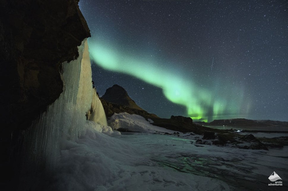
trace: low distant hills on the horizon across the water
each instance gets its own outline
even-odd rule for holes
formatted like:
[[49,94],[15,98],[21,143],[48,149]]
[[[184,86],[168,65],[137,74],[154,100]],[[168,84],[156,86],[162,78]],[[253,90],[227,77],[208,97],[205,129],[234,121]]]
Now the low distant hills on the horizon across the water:
[[219,119],[210,123],[195,122],[204,126],[240,126],[240,127],[288,127],[287,121],[251,120],[244,118]]

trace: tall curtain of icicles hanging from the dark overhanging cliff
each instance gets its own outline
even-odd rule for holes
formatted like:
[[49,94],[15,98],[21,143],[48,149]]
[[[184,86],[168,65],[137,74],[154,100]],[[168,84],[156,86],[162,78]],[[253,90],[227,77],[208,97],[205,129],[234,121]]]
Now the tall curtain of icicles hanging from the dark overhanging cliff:
[[64,88],[59,98],[23,134],[26,169],[55,168],[65,141],[75,141],[87,125],[85,114],[94,94],[87,39],[78,52],[76,60],[62,64]]

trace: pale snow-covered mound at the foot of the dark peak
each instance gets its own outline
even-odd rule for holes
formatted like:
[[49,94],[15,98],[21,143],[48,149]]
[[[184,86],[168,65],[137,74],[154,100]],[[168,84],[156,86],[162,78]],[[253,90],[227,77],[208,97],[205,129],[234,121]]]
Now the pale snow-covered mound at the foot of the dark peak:
[[129,114],[129,113],[115,113],[109,120],[108,124],[113,129],[127,129],[132,132],[164,132],[164,133],[170,133],[173,134],[174,132],[178,131],[172,131],[169,129],[165,129],[163,127],[158,127],[151,125],[150,123],[153,122],[151,119],[146,121],[144,117],[140,115],[135,114]]

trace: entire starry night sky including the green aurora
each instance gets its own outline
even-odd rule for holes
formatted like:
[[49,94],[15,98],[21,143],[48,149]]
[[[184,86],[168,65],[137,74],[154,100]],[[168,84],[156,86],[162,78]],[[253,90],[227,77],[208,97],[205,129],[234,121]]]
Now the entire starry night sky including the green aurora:
[[99,95],[194,121],[288,121],[288,1],[80,0]]

